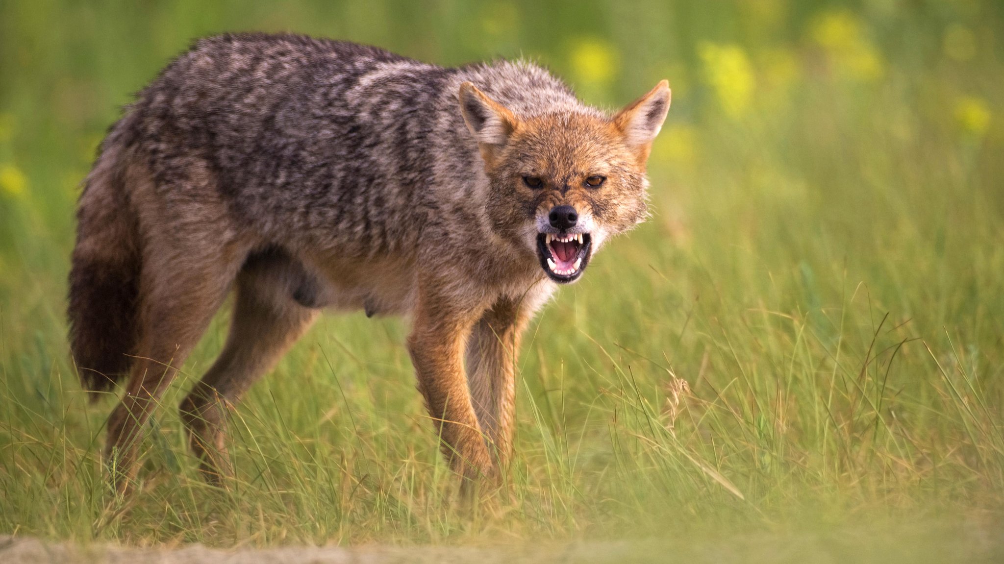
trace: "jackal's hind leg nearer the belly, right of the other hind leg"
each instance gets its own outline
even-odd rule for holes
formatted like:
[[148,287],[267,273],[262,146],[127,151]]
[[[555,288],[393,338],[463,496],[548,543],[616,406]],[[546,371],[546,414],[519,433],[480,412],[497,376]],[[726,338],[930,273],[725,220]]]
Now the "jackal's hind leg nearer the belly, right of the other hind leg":
[[268,372],[310,326],[319,310],[294,299],[301,270],[283,256],[252,256],[237,276],[227,343],[209,371],[182,401],[189,446],[203,477],[223,484],[233,475],[226,446],[228,405]]

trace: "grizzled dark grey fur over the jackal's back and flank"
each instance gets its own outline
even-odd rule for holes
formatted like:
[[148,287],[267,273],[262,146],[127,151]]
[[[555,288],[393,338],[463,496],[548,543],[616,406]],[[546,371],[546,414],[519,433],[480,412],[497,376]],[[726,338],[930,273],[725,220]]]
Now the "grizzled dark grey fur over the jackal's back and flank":
[[224,35],[178,57],[128,125],[161,184],[178,184],[198,158],[265,237],[307,230],[365,256],[412,246],[442,204],[437,187],[474,190],[481,166],[457,101],[465,80],[527,114],[582,107],[527,63],[441,68],[348,42]]

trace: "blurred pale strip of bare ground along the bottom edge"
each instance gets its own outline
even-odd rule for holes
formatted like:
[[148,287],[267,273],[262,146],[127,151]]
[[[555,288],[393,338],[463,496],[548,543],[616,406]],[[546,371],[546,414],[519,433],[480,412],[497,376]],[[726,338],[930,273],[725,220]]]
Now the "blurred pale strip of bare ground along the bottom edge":
[[137,548],[0,536],[3,564],[537,564],[1004,562],[1004,531],[986,524],[835,529],[719,539],[525,543],[518,546]]

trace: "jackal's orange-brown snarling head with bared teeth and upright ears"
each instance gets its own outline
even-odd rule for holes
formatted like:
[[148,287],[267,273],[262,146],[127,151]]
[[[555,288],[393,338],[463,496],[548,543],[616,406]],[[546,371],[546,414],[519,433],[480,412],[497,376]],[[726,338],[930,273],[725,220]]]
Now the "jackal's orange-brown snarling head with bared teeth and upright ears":
[[585,106],[518,116],[471,82],[460,105],[491,183],[493,232],[535,253],[551,280],[577,280],[603,241],[645,220],[666,80],[612,116]]

